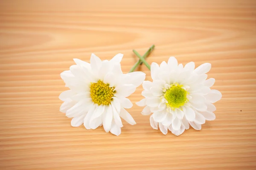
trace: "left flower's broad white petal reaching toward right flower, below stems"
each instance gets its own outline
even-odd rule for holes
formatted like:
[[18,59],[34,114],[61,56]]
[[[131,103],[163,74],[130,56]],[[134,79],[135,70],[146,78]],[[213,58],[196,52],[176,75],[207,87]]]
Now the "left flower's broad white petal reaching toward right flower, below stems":
[[125,79],[125,84],[133,84],[136,87],[141,85],[146,77],[146,74],[141,71],[131,72],[126,75],[128,75],[129,77]]

